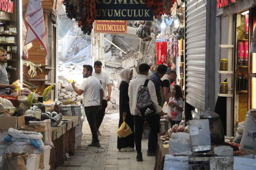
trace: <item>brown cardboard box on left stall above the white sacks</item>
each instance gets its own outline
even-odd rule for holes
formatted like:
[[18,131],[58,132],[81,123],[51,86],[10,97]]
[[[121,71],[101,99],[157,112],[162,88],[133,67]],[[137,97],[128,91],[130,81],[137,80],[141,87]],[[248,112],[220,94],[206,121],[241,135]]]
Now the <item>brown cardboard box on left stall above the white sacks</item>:
[[9,128],[18,129],[23,124],[25,124],[24,116],[0,116],[0,130],[8,130]]

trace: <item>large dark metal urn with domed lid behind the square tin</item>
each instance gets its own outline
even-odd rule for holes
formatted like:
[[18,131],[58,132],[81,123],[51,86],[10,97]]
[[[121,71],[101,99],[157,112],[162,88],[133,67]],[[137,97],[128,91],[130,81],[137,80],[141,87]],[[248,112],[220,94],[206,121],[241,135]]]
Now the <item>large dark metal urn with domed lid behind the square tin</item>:
[[200,115],[200,119],[209,119],[211,143],[216,145],[224,144],[225,134],[219,115],[213,112],[211,108],[208,108],[206,112]]

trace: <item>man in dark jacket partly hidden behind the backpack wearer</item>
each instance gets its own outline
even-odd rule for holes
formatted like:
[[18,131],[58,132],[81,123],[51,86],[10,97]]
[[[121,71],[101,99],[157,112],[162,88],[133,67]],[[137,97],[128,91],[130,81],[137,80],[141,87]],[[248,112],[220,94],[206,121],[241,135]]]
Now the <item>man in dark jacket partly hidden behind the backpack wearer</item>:
[[[162,103],[162,97],[161,97],[161,93],[160,93],[160,86],[161,86],[161,83],[162,83],[161,78],[165,75],[166,71],[167,71],[167,66],[161,64],[157,67],[157,72],[155,72],[154,74],[149,76],[150,80],[155,85],[155,92],[157,93],[157,102],[158,102],[159,106],[161,106],[161,103]],[[161,116],[158,115],[158,118],[159,118],[158,122],[160,121],[160,117]],[[151,133],[151,128],[150,128],[149,134],[148,134],[147,156],[155,156],[156,149],[157,149],[157,146],[154,146],[153,135]]]

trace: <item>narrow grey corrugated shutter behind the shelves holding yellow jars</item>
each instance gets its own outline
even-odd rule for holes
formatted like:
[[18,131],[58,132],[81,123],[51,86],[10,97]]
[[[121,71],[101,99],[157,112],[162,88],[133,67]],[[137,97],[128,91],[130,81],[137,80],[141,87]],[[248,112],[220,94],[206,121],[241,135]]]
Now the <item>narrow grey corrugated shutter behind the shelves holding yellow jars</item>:
[[[227,44],[227,35],[229,31],[229,16],[221,17],[221,44]],[[221,59],[227,59],[227,48],[221,48]],[[221,82],[226,80],[227,74],[221,74]]]

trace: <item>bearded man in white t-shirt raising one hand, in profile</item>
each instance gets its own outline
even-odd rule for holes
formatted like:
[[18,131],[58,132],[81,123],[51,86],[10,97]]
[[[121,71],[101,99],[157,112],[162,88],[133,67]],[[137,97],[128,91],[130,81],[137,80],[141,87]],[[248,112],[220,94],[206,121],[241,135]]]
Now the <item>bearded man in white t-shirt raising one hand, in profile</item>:
[[76,88],[76,82],[73,81],[71,84],[78,95],[83,94],[84,112],[93,135],[93,140],[88,146],[99,147],[101,145],[99,144],[95,116],[102,107],[103,90],[99,80],[91,76],[92,72],[93,67],[91,65],[83,65],[83,78],[86,79],[83,81],[80,89]]

